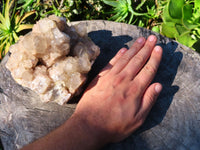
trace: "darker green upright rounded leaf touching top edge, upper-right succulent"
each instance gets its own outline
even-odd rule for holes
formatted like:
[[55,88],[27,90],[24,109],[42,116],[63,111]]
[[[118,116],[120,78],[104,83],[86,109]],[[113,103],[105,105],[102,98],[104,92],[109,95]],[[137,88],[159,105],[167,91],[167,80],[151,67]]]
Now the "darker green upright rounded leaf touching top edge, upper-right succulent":
[[169,15],[174,19],[181,19],[184,3],[184,0],[170,0],[168,7]]

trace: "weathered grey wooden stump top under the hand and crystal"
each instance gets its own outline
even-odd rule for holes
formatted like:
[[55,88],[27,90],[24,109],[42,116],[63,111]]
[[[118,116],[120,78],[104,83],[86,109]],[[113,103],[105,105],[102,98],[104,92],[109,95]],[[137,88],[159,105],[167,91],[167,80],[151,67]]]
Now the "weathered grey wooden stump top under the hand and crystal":
[[[89,73],[90,79],[121,47],[129,47],[139,36],[155,34],[107,21],[84,21],[79,25],[86,26],[89,37],[101,49]],[[155,81],[161,82],[164,89],[145,124],[126,140],[104,150],[199,150],[200,56],[156,35],[164,53]],[[5,68],[7,57],[0,65],[0,135],[5,149],[14,150],[62,124],[76,104],[37,103],[39,97],[35,93],[12,79]]]

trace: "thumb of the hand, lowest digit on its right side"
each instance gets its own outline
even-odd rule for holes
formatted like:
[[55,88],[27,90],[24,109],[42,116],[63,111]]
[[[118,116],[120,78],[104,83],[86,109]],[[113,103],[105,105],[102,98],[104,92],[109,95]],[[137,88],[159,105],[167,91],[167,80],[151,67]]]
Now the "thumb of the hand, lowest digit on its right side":
[[146,118],[161,91],[162,85],[160,83],[154,83],[147,88],[142,99],[139,116]]

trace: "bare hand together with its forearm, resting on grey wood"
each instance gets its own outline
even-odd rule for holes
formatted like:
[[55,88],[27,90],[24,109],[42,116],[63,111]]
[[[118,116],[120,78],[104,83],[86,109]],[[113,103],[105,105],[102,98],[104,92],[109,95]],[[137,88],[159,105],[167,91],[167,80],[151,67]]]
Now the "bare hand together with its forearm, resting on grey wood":
[[153,35],[122,48],[91,82],[62,126],[22,150],[94,150],[118,142],[145,121],[162,90],[151,84],[162,58]]

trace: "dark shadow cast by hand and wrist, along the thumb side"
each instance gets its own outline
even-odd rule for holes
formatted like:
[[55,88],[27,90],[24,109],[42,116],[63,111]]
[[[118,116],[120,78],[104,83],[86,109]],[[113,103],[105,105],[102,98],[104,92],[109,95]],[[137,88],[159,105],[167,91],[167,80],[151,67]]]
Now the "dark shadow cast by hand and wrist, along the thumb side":
[[153,106],[145,123],[134,134],[120,143],[106,146],[104,150],[120,148],[123,150],[152,150],[149,148],[145,139],[143,139],[143,136],[145,136],[143,132],[145,131],[148,134],[148,132],[151,132],[151,128],[160,124],[164,119],[175,93],[179,90],[178,86],[173,85],[173,81],[177,74],[178,66],[183,58],[183,54],[181,52],[175,52],[178,46],[177,43],[172,41],[167,44],[158,45],[163,48],[163,58],[153,82],[161,83],[163,85],[163,90],[157,102]]

